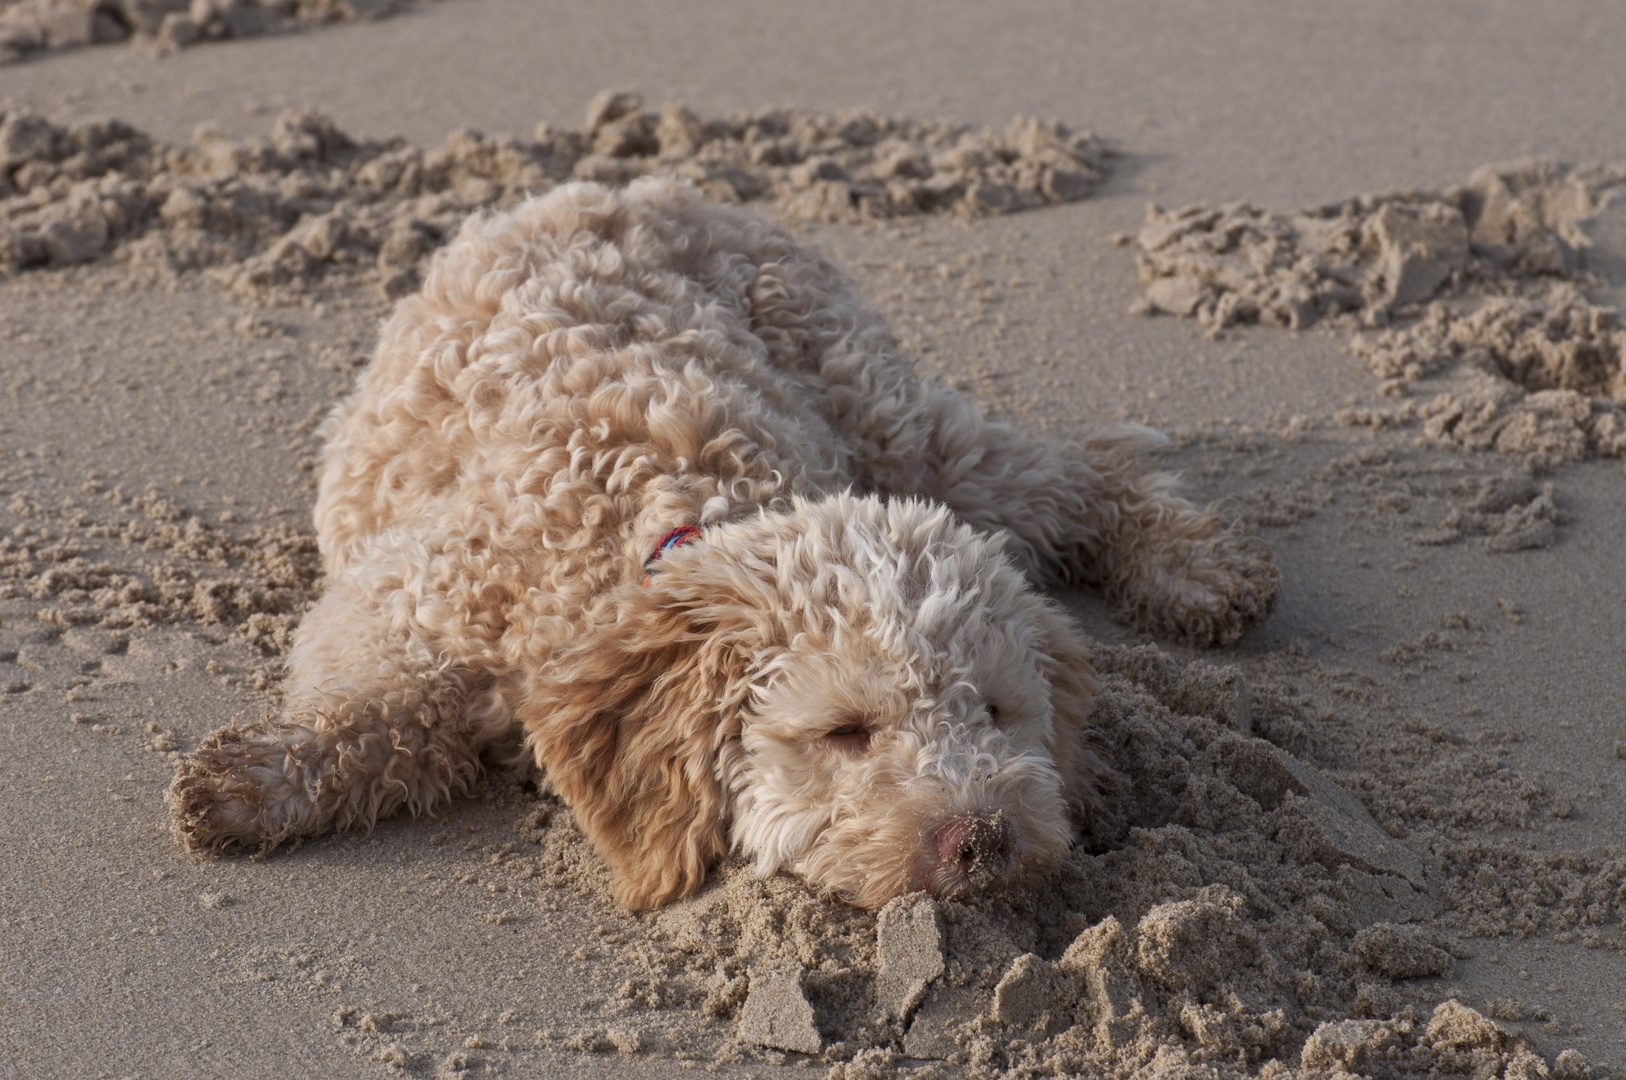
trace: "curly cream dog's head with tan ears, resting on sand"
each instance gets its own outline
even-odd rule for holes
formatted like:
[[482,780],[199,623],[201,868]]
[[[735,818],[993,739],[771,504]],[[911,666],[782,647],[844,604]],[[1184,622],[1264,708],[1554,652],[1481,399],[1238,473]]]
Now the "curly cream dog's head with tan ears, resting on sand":
[[616,898],[732,844],[863,906],[1044,873],[1099,808],[1083,644],[941,506],[834,496],[707,530],[525,704]]

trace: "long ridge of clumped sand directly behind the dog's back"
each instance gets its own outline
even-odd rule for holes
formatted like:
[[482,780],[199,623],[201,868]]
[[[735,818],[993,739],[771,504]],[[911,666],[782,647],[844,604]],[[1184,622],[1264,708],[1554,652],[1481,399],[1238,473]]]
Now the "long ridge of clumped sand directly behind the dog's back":
[[333,280],[387,296],[475,210],[569,179],[672,174],[719,202],[771,202],[805,221],[987,215],[1083,198],[1107,151],[1057,122],[974,130],[854,111],[701,119],[598,94],[580,130],[530,140],[460,130],[434,150],[359,140],[312,111],[268,138],[202,128],[164,146],[117,120],[0,119],[0,273],[115,255],[166,273],[210,268],[239,293],[298,298]]

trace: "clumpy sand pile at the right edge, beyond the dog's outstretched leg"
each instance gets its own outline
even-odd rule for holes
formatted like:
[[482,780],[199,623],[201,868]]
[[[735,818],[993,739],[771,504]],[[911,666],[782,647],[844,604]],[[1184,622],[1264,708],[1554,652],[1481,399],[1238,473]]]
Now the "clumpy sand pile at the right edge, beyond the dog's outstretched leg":
[[1351,350],[1406,397],[1418,381],[1483,381],[1346,423],[1423,423],[1426,438],[1550,460],[1626,451],[1626,332],[1587,301],[1579,224],[1623,168],[1486,166],[1446,192],[1361,195],[1298,215],[1247,205],[1148,210],[1135,237],[1141,312],[1210,332],[1262,324],[1364,330]]

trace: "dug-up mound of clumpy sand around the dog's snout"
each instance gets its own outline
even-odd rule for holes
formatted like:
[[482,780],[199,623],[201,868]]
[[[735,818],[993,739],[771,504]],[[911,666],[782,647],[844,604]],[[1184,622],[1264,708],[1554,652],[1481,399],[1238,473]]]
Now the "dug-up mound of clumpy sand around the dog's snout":
[[[689,1010],[720,1026],[724,1057],[806,1054],[831,1080],[938,1075],[930,1062],[989,1078],[1602,1075],[1569,1051],[1548,1064],[1437,982],[1459,937],[1597,935],[1626,914],[1626,862],[1566,857],[1550,886],[1551,859],[1475,830],[1543,808],[1488,768],[1494,750],[1442,750],[1426,724],[1374,732],[1340,751],[1371,766],[1346,773],[1356,799],[1283,748],[1307,753],[1332,722],[1288,683],[1151,646],[1094,662],[1122,817],[1046,890],[865,912],[730,862],[699,895],[606,929],[639,971],[620,1007]],[[602,901],[569,810],[546,802],[520,833],[540,854],[504,856],[512,872]]]

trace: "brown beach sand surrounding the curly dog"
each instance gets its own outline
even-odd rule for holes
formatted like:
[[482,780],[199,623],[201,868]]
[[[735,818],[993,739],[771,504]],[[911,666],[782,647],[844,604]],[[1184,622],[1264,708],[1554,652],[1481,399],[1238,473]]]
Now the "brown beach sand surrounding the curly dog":
[[[1608,7],[774,20],[444,0],[3,68],[0,1075],[1626,1072]],[[163,787],[276,708],[377,320],[465,213],[647,171],[824,246],[997,416],[1169,431],[1275,620],[1198,655],[1062,597],[1122,790],[1034,895],[730,862],[631,917],[517,774],[185,857]]]

